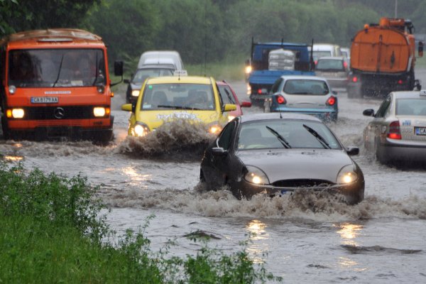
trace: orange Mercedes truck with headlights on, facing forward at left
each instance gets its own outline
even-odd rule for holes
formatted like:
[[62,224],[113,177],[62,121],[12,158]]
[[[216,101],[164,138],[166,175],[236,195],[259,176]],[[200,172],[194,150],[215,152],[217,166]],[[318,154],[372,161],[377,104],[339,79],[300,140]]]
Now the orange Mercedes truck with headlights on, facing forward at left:
[[[122,77],[123,63],[114,63]],[[111,80],[102,38],[79,29],[14,33],[0,40],[4,138],[113,137]]]

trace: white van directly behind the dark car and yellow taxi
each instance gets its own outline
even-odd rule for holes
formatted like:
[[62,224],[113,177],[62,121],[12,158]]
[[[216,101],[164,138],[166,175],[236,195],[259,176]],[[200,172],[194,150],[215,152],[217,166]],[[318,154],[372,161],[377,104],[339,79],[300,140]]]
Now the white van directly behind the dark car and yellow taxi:
[[142,53],[139,58],[138,69],[144,65],[164,65],[174,70],[185,70],[178,51],[174,50],[151,50]]

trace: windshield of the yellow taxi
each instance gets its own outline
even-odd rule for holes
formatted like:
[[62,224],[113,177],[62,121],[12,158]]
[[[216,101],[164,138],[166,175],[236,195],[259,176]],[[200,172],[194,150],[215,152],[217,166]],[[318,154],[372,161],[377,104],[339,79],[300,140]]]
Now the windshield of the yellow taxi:
[[141,109],[213,110],[214,96],[210,84],[147,84]]

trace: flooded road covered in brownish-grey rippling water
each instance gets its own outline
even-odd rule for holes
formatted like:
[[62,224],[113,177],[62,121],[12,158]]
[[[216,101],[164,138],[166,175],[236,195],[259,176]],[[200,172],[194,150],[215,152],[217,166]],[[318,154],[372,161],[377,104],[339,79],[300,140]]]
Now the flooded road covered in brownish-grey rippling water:
[[[426,70],[417,77],[426,83]],[[230,84],[248,99],[244,82]],[[426,282],[425,170],[390,168],[364,151],[362,131],[371,118],[362,111],[377,109],[380,100],[338,94],[339,121],[329,126],[345,146],[359,146],[354,160],[366,180],[365,200],[348,206],[327,196],[240,201],[226,191],[206,192],[198,185],[202,146],[153,158],[155,154],[146,157],[141,149],[155,148],[155,141],[147,145],[126,138],[129,113],[119,110],[124,85],[122,89],[113,101],[115,141],[110,146],[0,141],[0,152],[6,160],[23,160],[27,168],[82,174],[101,185],[99,195],[112,209],[108,222],[119,234],[137,230],[154,214],[146,229],[153,251],[173,240],[170,253],[195,254],[202,244],[184,235],[200,231],[213,236],[210,247],[225,253],[239,251],[241,241],[248,241],[251,258],[266,263],[284,283]],[[166,142],[157,141],[157,148],[164,149]]]

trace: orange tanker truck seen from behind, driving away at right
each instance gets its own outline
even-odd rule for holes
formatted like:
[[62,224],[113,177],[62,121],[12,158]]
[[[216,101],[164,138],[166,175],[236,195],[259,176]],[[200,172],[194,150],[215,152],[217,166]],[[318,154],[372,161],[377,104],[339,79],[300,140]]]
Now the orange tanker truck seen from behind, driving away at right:
[[[416,82],[414,26],[403,18],[381,18],[365,25],[351,45],[348,97],[383,96],[412,90]],[[423,46],[419,43],[418,55]]]

